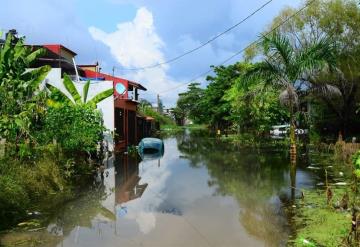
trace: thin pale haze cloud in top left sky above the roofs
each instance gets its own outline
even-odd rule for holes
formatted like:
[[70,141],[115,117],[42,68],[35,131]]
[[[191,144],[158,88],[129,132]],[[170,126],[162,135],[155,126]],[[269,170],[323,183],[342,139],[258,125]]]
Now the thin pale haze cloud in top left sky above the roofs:
[[78,64],[114,63],[107,47],[94,41],[83,25],[74,0],[1,0],[0,29],[12,28],[25,35],[28,44],[66,46],[78,54]]

